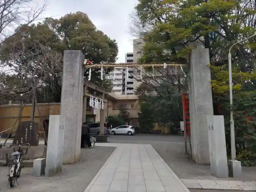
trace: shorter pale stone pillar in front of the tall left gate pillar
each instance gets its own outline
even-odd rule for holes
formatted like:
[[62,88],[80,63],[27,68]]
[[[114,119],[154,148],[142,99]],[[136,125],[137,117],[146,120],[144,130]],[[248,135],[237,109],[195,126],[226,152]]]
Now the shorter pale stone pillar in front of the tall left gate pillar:
[[50,115],[45,167],[46,177],[54,176],[61,172],[63,163],[64,123],[65,116]]

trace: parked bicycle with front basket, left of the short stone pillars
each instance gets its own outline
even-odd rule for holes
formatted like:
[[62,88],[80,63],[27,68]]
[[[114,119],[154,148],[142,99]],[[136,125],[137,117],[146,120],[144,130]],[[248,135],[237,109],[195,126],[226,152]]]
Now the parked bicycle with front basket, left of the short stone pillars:
[[8,183],[10,183],[10,187],[14,187],[15,181],[19,185],[17,179],[20,177],[20,173],[21,173],[22,157],[23,157],[23,155],[27,154],[27,150],[29,149],[28,147],[23,148],[23,149],[20,147],[25,146],[25,145],[30,147],[29,143],[25,143],[22,145],[12,143],[9,147],[9,148],[11,148],[12,146],[19,147],[18,150],[15,150],[15,148],[14,148],[14,153],[11,154],[11,156],[13,157],[13,161],[10,163],[8,160],[8,166],[9,166]]

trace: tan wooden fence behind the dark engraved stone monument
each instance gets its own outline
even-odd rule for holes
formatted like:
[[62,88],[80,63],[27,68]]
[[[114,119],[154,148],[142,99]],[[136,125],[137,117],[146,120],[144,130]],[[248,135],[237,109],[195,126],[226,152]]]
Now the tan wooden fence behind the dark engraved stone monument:
[[[21,113],[22,108],[23,108],[23,105],[19,105],[19,104],[0,106],[0,132],[14,126],[15,121],[19,117],[19,114]],[[32,108],[31,104],[27,104],[24,107],[18,122],[16,123],[14,129],[12,129],[11,132],[16,132],[16,129],[20,121],[30,120],[31,108]],[[38,106],[35,107],[35,113],[34,113],[34,121],[38,122],[38,132],[39,133],[43,132],[40,117],[42,120],[44,120],[45,118],[48,118],[49,115],[59,115],[59,114],[60,114],[60,103],[39,103]]]

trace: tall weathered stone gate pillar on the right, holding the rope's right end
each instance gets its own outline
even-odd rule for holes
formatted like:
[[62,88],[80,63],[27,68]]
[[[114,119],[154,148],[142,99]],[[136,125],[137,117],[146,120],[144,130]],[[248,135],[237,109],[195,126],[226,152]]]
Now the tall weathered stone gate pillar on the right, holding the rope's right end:
[[189,113],[192,159],[209,165],[207,116],[213,115],[209,49],[193,49],[189,66]]

